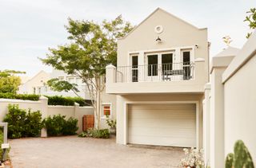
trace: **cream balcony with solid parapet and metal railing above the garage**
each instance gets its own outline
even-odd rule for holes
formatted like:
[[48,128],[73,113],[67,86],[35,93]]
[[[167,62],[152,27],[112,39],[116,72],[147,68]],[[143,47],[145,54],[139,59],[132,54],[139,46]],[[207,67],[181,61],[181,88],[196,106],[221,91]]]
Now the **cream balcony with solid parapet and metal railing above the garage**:
[[202,93],[207,81],[205,61],[106,67],[106,93]]

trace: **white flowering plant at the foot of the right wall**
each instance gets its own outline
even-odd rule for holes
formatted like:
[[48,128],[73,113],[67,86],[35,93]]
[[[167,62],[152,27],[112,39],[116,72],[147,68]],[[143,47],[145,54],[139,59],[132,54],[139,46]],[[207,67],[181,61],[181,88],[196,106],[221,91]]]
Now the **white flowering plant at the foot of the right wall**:
[[183,149],[185,152],[185,158],[182,158],[179,163],[179,167],[190,167],[190,168],[202,168],[205,166],[203,161],[203,150],[198,150],[195,148]]

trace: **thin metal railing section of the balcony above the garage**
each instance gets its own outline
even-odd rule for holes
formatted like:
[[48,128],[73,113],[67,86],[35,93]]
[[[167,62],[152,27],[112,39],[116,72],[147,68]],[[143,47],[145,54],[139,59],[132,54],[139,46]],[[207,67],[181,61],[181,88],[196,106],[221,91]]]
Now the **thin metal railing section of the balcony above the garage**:
[[194,62],[120,66],[115,72],[116,83],[193,80]]

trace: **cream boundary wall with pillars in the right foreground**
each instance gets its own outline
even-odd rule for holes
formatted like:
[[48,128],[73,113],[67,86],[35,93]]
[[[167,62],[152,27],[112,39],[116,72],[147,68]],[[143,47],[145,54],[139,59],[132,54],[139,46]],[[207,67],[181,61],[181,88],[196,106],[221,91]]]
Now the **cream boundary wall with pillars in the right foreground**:
[[241,139],[256,164],[256,31],[233,57],[213,57],[204,100],[204,150],[210,167],[225,167]]

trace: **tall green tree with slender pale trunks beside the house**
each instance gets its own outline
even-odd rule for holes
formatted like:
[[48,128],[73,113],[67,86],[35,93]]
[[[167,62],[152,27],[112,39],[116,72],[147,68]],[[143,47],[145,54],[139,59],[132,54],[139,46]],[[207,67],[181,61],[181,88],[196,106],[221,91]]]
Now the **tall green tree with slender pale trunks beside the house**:
[[[70,43],[59,45],[55,49],[51,48],[47,57],[41,60],[55,69],[82,78],[90,92],[94,107],[94,123],[98,128],[102,92],[105,89],[105,67],[107,64],[116,64],[117,39],[126,36],[133,27],[130,22],[123,21],[121,15],[112,21],[105,20],[100,24],[94,21],[75,21],[70,18],[68,21],[66,30],[69,33]],[[54,85],[63,84],[56,84],[55,81]],[[66,86],[70,87],[68,84]]]

